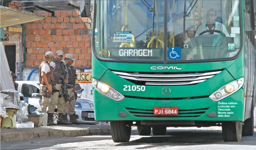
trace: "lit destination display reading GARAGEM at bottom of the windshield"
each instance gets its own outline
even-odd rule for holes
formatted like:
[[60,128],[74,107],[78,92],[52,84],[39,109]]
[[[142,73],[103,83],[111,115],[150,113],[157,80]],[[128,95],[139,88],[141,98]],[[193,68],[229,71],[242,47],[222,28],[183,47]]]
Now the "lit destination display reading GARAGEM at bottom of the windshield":
[[161,49],[111,48],[114,57],[160,57]]

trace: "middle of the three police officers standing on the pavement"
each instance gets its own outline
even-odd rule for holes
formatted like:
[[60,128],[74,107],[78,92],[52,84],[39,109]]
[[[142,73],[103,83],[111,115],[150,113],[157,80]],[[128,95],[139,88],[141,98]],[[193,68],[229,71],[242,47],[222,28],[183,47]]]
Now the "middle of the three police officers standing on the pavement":
[[69,121],[65,120],[65,115],[63,113],[64,110],[64,94],[65,91],[63,90],[63,85],[65,85],[66,82],[66,70],[65,65],[61,61],[63,58],[63,51],[57,50],[55,54],[55,58],[50,63],[50,65],[54,68],[53,71],[53,77],[54,77],[54,84],[53,84],[53,91],[52,95],[50,97],[50,104],[49,104],[49,110],[48,110],[48,116],[53,115],[55,111],[55,107],[57,106],[58,110],[58,121],[57,124],[59,125],[69,125],[71,124]]

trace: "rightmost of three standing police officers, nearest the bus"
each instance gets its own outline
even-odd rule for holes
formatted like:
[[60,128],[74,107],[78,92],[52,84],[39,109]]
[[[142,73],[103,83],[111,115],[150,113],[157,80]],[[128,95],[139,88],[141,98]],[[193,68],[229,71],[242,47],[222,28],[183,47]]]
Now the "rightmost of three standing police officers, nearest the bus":
[[76,119],[76,112],[75,112],[75,105],[76,105],[76,69],[72,66],[72,63],[76,59],[74,58],[73,54],[66,54],[65,59],[64,59],[64,64],[66,65],[66,69],[69,73],[69,83],[66,85],[67,86],[67,91],[69,94],[70,100],[65,103],[65,108],[64,108],[64,114],[65,114],[65,119],[67,120],[67,113],[69,113],[70,116],[70,122],[72,124],[81,124],[80,122],[77,121]]

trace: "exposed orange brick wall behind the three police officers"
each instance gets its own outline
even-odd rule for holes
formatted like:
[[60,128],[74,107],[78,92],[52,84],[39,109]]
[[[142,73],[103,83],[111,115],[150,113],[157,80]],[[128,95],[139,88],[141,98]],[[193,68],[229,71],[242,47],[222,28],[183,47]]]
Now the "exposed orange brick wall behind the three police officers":
[[76,68],[91,68],[91,20],[79,11],[34,11],[47,17],[25,25],[27,48],[25,67],[38,67],[47,51],[63,50],[77,59]]

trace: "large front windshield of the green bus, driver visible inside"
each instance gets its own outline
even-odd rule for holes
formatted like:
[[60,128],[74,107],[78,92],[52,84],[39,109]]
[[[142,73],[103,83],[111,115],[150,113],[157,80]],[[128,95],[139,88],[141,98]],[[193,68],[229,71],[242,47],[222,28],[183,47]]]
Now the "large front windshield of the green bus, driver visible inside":
[[213,61],[240,51],[239,0],[99,0],[94,7],[101,58]]

